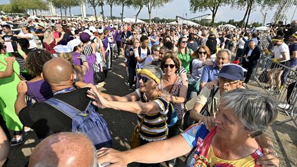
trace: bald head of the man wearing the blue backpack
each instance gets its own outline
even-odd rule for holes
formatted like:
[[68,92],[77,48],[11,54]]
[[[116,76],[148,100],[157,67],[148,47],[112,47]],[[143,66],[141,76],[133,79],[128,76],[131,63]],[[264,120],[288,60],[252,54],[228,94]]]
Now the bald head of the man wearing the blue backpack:
[[63,58],[52,58],[43,65],[43,78],[50,85],[72,84],[73,68],[69,61]]

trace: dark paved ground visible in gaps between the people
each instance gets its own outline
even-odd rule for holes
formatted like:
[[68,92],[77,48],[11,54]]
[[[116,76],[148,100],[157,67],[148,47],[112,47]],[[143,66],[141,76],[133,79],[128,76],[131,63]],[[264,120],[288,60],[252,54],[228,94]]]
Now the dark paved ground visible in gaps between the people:
[[[113,70],[109,72],[106,80],[106,84],[102,87],[102,91],[124,96],[128,91],[126,85],[126,71],[124,69],[124,58],[118,58],[113,61]],[[255,82],[249,85],[251,89],[258,89]],[[190,109],[193,105],[192,100],[189,101],[186,106]],[[113,109],[100,110],[105,120],[109,124],[111,129],[111,135],[113,136],[114,148],[124,151],[130,148],[129,139],[131,137],[133,126],[135,125],[136,115],[132,113],[126,113],[123,111],[114,111]],[[279,113],[276,122],[286,120],[287,116],[284,113]],[[267,133],[274,141],[274,146],[281,159],[281,166],[297,166],[297,133],[296,126],[292,122],[276,125],[273,124]],[[11,149],[10,161],[8,166],[24,166],[32,153],[32,150],[36,144],[39,143],[34,133],[25,136],[26,142],[21,146],[14,146]],[[184,157],[180,157],[177,160],[176,166],[183,166]],[[131,164],[129,166],[136,166]]]

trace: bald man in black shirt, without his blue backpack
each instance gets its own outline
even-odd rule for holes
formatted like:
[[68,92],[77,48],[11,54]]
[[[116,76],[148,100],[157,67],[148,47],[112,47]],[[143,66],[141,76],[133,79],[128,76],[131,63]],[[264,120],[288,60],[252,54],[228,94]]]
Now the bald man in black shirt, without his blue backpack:
[[[43,65],[43,78],[50,83],[54,98],[66,102],[83,111],[89,104],[88,88],[74,89],[72,86],[74,74],[72,65],[63,58],[54,58]],[[17,86],[17,101],[15,109],[19,119],[36,132],[37,137],[44,138],[58,132],[72,131],[72,119],[45,102],[39,102],[27,107],[25,93],[28,87],[25,82]]]

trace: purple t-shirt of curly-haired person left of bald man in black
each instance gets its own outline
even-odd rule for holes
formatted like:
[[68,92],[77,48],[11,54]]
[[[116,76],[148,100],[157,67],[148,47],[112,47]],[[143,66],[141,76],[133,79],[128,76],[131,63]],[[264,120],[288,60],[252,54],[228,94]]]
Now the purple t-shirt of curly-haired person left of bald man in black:
[[29,98],[33,98],[37,102],[44,102],[45,100],[52,98],[52,96],[54,96],[50,84],[45,80],[27,82],[27,85],[27,96]]

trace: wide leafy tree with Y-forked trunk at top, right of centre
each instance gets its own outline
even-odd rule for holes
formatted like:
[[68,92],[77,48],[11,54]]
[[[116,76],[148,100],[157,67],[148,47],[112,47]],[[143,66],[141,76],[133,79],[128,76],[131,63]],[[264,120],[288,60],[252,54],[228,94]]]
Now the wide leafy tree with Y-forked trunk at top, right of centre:
[[227,4],[227,0],[190,0],[190,10],[192,12],[202,12],[210,10],[212,12],[212,22],[214,25],[214,18],[220,6]]

